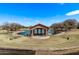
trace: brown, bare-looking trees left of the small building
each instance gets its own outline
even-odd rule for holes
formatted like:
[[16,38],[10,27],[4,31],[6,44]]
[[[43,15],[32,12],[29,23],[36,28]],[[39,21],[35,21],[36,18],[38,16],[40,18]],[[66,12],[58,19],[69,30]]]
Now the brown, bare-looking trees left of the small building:
[[0,26],[3,30],[7,30],[8,32],[10,31],[17,31],[21,28],[25,28],[25,26],[20,25],[18,23],[4,23],[3,25]]

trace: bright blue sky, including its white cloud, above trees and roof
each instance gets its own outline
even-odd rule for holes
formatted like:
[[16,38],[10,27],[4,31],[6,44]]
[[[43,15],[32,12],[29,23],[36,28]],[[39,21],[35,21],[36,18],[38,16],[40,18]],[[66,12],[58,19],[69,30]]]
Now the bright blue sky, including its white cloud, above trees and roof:
[[50,26],[69,18],[79,21],[78,3],[0,4],[0,24],[16,22],[25,26],[38,23]]

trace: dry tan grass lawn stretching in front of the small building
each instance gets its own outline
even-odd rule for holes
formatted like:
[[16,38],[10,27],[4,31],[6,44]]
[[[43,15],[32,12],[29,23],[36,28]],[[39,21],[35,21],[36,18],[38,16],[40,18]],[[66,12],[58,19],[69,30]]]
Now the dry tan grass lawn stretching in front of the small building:
[[[69,40],[67,40],[69,37]],[[12,38],[12,40],[10,40]],[[11,36],[10,34],[0,34],[0,47],[19,49],[41,49],[56,50],[68,49],[79,46],[79,30],[63,33],[62,35],[52,35],[49,39],[38,40],[24,36]]]

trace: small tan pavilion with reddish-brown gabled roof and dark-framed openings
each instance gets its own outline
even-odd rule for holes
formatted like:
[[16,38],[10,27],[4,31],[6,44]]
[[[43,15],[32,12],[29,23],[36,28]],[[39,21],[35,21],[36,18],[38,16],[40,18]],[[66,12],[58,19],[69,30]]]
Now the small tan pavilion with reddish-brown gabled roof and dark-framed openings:
[[42,24],[37,24],[35,26],[30,27],[31,36],[45,36],[48,35],[48,27]]

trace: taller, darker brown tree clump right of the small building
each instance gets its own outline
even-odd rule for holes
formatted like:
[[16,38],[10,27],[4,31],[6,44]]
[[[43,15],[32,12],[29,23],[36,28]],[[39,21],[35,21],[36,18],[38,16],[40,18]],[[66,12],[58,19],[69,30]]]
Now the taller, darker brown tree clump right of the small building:
[[62,23],[54,23],[50,26],[53,34],[69,31],[71,29],[79,29],[79,22],[76,19],[67,19]]

